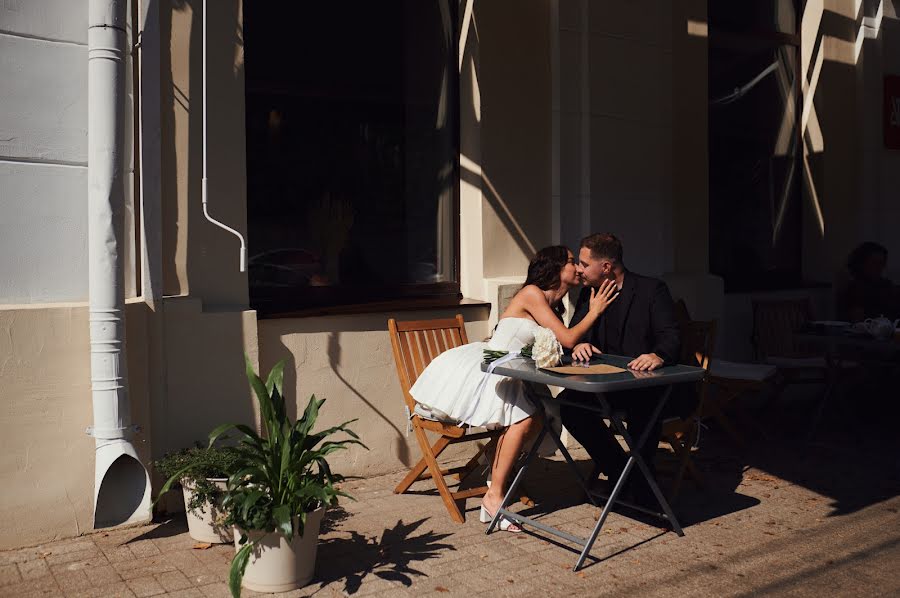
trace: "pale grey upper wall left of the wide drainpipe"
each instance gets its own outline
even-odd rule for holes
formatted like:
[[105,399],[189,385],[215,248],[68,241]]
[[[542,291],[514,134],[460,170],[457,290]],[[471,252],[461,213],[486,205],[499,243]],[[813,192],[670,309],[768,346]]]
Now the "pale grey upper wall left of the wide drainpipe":
[[87,298],[86,44],[86,1],[0,4],[0,304]]

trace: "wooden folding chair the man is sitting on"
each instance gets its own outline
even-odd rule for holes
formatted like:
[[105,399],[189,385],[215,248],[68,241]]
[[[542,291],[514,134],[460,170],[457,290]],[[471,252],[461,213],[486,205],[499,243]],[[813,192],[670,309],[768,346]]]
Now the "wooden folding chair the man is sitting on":
[[697,383],[697,408],[687,419],[672,418],[663,421],[662,441],[672,447],[678,458],[678,471],[669,491],[670,500],[675,500],[681,490],[685,474],[702,487],[703,480],[691,459],[691,448],[700,433],[700,421],[711,415],[708,413],[707,393],[709,390],[709,363],[712,358],[716,338],[716,321],[690,320],[681,325],[681,363],[702,367],[707,374]]

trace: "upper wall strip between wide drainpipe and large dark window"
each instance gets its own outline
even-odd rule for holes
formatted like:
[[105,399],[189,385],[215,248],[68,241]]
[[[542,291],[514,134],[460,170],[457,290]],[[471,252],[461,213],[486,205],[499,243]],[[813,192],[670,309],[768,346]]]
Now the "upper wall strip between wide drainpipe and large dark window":
[[[210,212],[214,218],[243,230],[246,159],[241,2],[215,0],[209,4]],[[206,299],[211,303],[246,304],[246,275],[237,268],[237,241],[203,216],[202,0],[160,0],[158,12],[164,294],[186,295],[191,290],[196,294],[200,290],[210,295]],[[189,17],[176,13],[189,13]],[[184,18],[190,19],[188,24]],[[217,101],[223,98],[225,101]],[[229,300],[234,289],[241,289],[243,295]]]

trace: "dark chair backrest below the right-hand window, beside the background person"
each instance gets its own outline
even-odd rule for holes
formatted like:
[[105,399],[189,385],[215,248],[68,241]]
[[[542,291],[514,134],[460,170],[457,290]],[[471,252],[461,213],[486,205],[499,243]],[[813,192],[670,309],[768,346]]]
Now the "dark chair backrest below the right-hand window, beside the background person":
[[809,297],[753,301],[753,357],[793,357],[798,354],[794,331],[812,319]]

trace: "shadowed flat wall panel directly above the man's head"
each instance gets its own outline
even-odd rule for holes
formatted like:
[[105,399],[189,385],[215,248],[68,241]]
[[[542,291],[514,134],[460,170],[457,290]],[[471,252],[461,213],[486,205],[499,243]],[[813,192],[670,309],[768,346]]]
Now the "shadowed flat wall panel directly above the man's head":
[[615,232],[628,267],[672,269],[672,4],[591,2],[592,231]]

